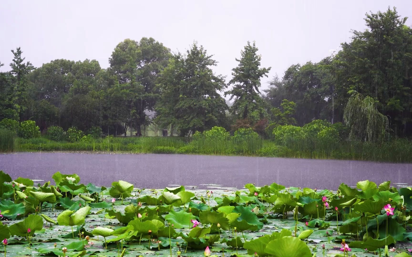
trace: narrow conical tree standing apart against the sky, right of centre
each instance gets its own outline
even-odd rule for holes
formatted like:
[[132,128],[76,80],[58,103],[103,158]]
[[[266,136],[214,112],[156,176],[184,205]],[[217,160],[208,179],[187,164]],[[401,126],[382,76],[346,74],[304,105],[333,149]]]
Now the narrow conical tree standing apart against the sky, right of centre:
[[269,68],[260,68],[262,56],[258,55],[255,42],[248,44],[241,51],[241,58],[236,58],[239,65],[232,69],[233,78],[228,86],[232,89],[225,92],[234,99],[230,108],[231,113],[238,119],[248,119],[253,123],[267,116],[265,103],[260,96],[260,79],[267,76]]

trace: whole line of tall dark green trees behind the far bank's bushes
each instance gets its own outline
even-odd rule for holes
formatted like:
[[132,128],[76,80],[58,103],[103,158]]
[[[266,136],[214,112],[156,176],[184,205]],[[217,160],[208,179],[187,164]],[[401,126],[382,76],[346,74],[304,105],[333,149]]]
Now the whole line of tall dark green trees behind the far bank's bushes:
[[[265,136],[277,125],[303,126],[317,119],[345,123],[345,107],[358,94],[387,118],[391,134],[408,137],[412,28],[406,20],[396,8],[366,14],[367,29],[353,30],[335,55],[291,65],[262,92],[260,79],[270,67],[261,67],[255,42],[247,42],[236,58],[228,83],[213,72],[216,60],[197,42],[184,53],[171,53],[151,37],[125,39],[113,50],[107,69],[89,59],[58,59],[35,68],[18,47],[12,50],[11,70],[0,73],[0,120],[31,119],[41,130],[97,126],[115,135],[132,130],[140,135],[149,125],[171,125],[182,136],[213,126],[251,127]],[[227,106],[222,95],[233,105]]]

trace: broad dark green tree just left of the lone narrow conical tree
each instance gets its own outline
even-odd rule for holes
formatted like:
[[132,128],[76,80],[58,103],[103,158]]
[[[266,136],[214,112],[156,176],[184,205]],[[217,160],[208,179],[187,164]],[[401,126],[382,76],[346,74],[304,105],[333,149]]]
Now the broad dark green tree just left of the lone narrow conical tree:
[[197,43],[186,55],[173,56],[157,81],[157,120],[175,125],[181,135],[220,125],[228,107],[218,93],[226,87],[225,77],[211,69],[216,63]]

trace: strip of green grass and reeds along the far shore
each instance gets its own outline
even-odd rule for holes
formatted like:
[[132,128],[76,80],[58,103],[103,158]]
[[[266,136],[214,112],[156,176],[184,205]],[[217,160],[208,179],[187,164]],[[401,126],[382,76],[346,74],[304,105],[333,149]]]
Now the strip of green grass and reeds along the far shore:
[[288,141],[279,146],[270,140],[234,141],[180,137],[115,137],[89,142],[56,142],[45,137],[15,140],[16,151],[98,151],[129,153],[180,153],[204,155],[242,155],[307,159],[370,160],[412,162],[412,142],[396,139],[380,144],[358,141],[320,143]]

